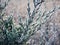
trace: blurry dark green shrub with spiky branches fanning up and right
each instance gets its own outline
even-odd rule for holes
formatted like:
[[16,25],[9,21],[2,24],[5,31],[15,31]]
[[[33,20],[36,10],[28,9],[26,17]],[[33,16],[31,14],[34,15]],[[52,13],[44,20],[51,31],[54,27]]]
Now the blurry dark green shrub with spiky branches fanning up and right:
[[[41,14],[39,9],[44,0],[33,0],[34,10],[30,12],[30,3],[28,0],[28,15],[25,22],[22,21],[21,16],[19,16],[19,25],[16,27],[13,23],[13,16],[9,15],[7,19],[4,19],[4,9],[8,3],[1,4],[0,6],[0,45],[27,45],[26,42],[29,38],[38,30],[41,29],[41,25],[45,24],[53,13],[60,9],[60,7],[54,7],[50,11],[45,11]],[[44,2],[45,3],[45,2]],[[37,8],[37,6],[39,6]],[[37,12],[38,10],[38,12]],[[38,17],[34,20],[35,15],[38,13]],[[41,17],[43,17],[43,22],[41,22]],[[48,22],[46,27],[48,27]],[[49,45],[51,43],[48,37],[49,30],[45,29],[45,33],[42,33],[40,37],[40,45]],[[53,36],[54,37],[54,36]]]

